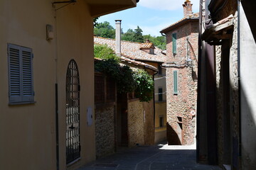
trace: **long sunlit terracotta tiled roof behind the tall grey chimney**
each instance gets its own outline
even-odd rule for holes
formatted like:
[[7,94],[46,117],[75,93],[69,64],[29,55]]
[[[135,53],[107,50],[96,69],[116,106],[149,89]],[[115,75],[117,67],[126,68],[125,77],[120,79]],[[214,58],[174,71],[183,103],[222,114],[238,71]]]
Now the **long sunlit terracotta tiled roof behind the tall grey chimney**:
[[[115,51],[115,40],[110,38],[94,37],[94,43],[99,45],[107,45]],[[143,43],[121,41],[121,55],[131,60],[141,60],[148,62],[166,62],[166,55],[161,53],[161,49],[155,47],[154,55],[140,50]]]

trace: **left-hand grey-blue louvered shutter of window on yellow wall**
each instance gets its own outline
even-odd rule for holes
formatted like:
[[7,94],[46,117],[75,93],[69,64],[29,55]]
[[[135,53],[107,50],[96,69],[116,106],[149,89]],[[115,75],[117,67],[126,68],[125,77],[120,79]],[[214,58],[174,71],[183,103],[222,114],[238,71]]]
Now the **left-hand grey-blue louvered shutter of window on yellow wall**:
[[8,45],[9,103],[21,101],[21,48]]

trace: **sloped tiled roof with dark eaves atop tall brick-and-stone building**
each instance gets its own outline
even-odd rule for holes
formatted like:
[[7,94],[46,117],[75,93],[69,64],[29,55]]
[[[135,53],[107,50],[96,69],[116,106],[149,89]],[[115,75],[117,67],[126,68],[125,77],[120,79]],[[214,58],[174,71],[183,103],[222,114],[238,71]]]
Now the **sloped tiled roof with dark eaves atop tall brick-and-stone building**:
[[174,30],[175,28],[178,28],[179,26],[182,26],[183,24],[188,23],[190,21],[199,21],[199,13],[192,13],[191,15],[182,18],[176,23],[173,23],[170,26],[167,26],[166,28],[162,29],[160,33],[168,33],[169,31]]

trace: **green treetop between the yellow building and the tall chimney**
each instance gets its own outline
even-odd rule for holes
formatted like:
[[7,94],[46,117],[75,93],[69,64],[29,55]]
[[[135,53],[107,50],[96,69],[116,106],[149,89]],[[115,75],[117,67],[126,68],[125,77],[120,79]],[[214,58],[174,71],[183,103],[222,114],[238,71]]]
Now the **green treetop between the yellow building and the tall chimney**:
[[97,23],[94,28],[94,34],[103,38],[114,38],[115,30],[109,22]]

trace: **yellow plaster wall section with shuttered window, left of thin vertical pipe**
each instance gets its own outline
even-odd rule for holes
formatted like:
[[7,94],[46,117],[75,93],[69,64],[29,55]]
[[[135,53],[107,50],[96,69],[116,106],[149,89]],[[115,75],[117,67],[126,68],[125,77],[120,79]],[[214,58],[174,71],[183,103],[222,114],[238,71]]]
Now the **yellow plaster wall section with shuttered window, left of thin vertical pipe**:
[[[50,2],[0,1],[0,169],[55,169],[55,50],[54,40],[46,41],[46,24],[55,22]],[[9,106],[7,43],[33,49],[34,104]]]

